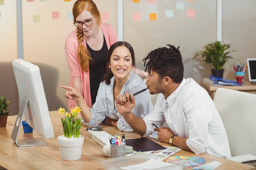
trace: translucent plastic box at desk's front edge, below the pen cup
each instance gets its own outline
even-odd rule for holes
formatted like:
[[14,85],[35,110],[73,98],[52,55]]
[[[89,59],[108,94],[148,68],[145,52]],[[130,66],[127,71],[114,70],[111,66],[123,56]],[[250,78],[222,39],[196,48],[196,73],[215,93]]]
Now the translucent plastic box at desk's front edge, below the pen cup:
[[[121,167],[127,167],[130,165],[135,165],[135,164],[141,164],[143,162],[146,162],[147,160],[150,160],[152,158],[155,158],[154,155],[150,154],[135,154],[131,156],[123,156],[120,158],[114,158],[114,159],[108,159],[108,160],[102,160],[101,164],[104,165],[104,169],[112,170],[112,169],[121,169]],[[163,168],[156,168],[156,169],[161,169],[161,170],[166,170],[166,169],[185,169],[184,165],[174,165],[170,164],[168,167],[163,167]]]

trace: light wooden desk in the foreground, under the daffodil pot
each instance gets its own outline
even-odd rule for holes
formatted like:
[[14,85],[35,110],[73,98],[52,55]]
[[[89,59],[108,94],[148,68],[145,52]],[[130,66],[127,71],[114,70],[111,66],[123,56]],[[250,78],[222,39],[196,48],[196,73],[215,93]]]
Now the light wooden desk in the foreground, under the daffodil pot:
[[[101,164],[101,160],[110,159],[102,155],[102,147],[88,137],[87,131],[82,131],[82,135],[85,137],[84,146],[82,147],[81,159],[77,161],[64,161],[61,159],[59,146],[57,144],[57,137],[63,134],[60,117],[57,111],[50,112],[53,130],[55,138],[48,139],[48,146],[38,147],[18,147],[11,139],[11,133],[13,131],[14,122],[16,116],[9,116],[7,120],[6,128],[0,128],[0,165],[6,169],[104,169]],[[108,125],[102,125],[103,130],[108,131],[111,135],[125,134],[127,139],[139,138],[136,133],[123,133],[117,128]],[[34,131],[31,134],[24,134],[23,129],[20,129],[20,138],[27,138],[30,135],[38,137],[38,134]],[[158,139],[151,138],[152,141],[159,143],[160,145],[170,146],[165,143],[160,143]],[[188,151],[178,151],[174,155],[176,156],[200,156],[205,159],[205,163],[212,162],[214,160],[221,162],[222,164],[216,169],[255,169],[249,165],[233,162],[232,160],[220,158],[209,154],[195,155]],[[1,169],[1,167],[0,167]],[[187,168],[191,169],[191,168]]]

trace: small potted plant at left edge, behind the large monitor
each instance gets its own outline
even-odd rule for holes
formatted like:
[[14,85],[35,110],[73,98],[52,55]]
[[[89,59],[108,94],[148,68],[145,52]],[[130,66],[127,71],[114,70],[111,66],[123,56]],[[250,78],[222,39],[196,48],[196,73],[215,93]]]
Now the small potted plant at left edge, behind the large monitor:
[[0,97],[0,128],[6,127],[7,117],[9,114],[8,107],[10,101],[6,101],[5,96]]

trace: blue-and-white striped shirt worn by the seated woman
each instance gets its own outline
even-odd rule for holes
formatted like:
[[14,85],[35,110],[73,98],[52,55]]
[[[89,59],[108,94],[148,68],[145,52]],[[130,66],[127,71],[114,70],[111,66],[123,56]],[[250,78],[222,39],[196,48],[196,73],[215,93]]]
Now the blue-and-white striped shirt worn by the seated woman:
[[[98,125],[102,122],[106,116],[117,121],[117,128],[120,131],[131,132],[130,125],[127,124],[125,118],[118,113],[117,105],[114,103],[113,99],[113,85],[114,85],[114,76],[111,79],[110,85],[107,85],[105,82],[100,83],[98,88],[98,93],[96,96],[96,101],[90,108],[91,117],[90,122],[87,125]],[[143,83],[142,79],[133,71],[130,72],[129,78],[126,80],[125,84],[122,87],[122,90],[119,95],[125,94],[128,91],[130,94],[134,94],[140,90],[146,88],[146,84]],[[146,114],[150,113],[152,110],[152,102],[148,91],[141,92],[140,94],[134,96],[135,98],[135,107],[132,109],[132,113],[136,117],[144,118]],[[115,107],[114,107],[115,105]],[[84,122],[84,119],[81,118],[81,121]],[[85,123],[86,124],[86,123]]]

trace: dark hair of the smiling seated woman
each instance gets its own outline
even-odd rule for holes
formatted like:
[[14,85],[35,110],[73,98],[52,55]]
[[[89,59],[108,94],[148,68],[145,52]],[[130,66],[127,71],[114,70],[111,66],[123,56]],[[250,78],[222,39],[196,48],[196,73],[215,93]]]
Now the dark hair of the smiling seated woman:
[[128,42],[125,42],[125,41],[115,42],[112,46],[110,46],[110,48],[108,50],[108,53],[106,56],[106,74],[103,76],[102,81],[101,81],[101,82],[105,81],[105,83],[107,85],[110,84],[110,79],[114,76],[111,69],[109,68],[110,58],[112,56],[114,49],[118,48],[118,46],[125,46],[129,50],[129,52],[131,53],[131,60],[132,60],[131,66],[135,67],[135,57],[134,57],[133,47]]

